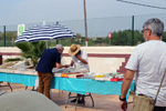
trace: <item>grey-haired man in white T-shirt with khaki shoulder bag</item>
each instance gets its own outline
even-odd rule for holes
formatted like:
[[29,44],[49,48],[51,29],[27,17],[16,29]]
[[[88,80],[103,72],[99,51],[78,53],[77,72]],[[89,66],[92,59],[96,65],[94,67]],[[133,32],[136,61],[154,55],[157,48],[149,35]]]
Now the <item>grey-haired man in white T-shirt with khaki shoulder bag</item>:
[[[165,74],[166,43],[160,39],[164,33],[164,23],[157,18],[149,19],[143,26],[143,33],[146,42],[138,44],[134,49],[125,67],[127,70],[123,80],[122,93],[120,97],[122,111],[126,111],[127,109],[126,93],[134,75],[136,95],[139,98],[148,95],[155,99],[163,75]],[[166,77],[164,79],[154,111],[166,111]],[[135,100],[136,99],[134,99],[133,111],[145,111],[143,105],[135,104]],[[141,103],[144,103],[143,99],[139,100]]]

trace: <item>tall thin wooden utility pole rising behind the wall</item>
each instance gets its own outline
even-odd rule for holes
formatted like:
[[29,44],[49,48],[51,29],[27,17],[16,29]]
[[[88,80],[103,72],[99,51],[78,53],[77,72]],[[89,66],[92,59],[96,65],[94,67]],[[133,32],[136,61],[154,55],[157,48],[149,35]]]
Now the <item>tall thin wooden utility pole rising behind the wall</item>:
[[84,0],[84,27],[85,27],[85,47],[87,47],[87,23],[86,23],[86,3]]

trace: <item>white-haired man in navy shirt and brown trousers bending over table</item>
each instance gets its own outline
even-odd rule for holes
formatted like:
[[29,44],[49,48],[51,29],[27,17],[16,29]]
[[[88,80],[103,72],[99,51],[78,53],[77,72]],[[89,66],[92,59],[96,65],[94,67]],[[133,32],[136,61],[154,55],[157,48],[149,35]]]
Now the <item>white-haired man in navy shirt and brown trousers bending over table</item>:
[[52,69],[53,67],[61,69],[61,68],[69,68],[70,65],[61,65],[61,54],[64,48],[62,44],[56,44],[53,49],[46,49],[42,53],[37,71],[39,74],[39,87],[38,92],[44,93],[45,97],[51,99],[50,97],[50,89],[51,89],[51,81],[52,81]]

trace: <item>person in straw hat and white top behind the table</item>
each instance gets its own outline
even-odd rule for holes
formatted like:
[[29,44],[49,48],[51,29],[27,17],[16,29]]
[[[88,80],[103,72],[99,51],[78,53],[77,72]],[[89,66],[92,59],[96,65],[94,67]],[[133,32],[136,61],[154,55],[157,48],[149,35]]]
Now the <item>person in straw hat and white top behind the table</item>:
[[[87,53],[83,50],[81,50],[81,46],[79,44],[72,44],[69,54],[72,56],[71,67],[74,65],[74,68],[79,69],[85,69],[90,71],[89,61],[87,61]],[[81,94],[77,94],[81,97]],[[72,100],[71,102],[76,102],[76,99]],[[79,103],[84,103],[84,95],[82,95],[82,100],[79,98]]]

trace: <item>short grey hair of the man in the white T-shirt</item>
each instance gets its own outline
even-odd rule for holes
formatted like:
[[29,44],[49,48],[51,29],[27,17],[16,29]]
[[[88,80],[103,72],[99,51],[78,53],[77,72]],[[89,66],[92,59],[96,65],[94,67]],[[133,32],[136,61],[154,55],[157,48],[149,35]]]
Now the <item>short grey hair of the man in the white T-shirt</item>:
[[151,29],[154,36],[162,37],[164,33],[164,23],[159,19],[153,18],[144,23],[143,29]]

